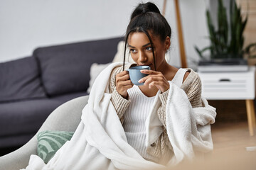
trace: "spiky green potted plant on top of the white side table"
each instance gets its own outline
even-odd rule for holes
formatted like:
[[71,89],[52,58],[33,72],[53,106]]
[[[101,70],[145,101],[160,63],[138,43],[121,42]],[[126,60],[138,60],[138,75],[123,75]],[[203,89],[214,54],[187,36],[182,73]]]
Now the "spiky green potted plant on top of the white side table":
[[[196,52],[201,57],[201,61],[210,62],[231,62],[240,63],[246,57],[256,57],[250,55],[256,49],[256,42],[244,46],[243,32],[247,23],[247,16],[243,19],[241,8],[237,6],[235,0],[230,0],[230,19],[228,22],[227,10],[223,6],[223,1],[218,0],[218,28],[213,26],[210,11],[206,11],[210,46],[199,50],[195,46]],[[203,55],[210,51],[210,56]]]

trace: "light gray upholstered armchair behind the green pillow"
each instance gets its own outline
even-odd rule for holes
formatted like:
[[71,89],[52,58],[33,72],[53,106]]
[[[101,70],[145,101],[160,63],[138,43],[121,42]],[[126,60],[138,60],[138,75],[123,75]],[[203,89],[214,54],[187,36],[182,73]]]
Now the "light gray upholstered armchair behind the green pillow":
[[[89,96],[82,96],[63,103],[56,108],[53,113],[50,113],[38,132],[44,130],[75,132],[81,120],[82,109],[87,104],[88,98]],[[38,141],[35,135],[26,145],[23,145],[23,147],[0,157],[1,169],[11,170],[26,168],[31,154],[37,154],[37,143]]]

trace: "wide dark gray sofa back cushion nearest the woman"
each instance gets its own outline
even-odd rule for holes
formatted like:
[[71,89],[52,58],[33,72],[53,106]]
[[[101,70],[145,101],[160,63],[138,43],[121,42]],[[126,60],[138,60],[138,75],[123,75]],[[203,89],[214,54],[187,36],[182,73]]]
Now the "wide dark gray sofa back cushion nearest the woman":
[[112,62],[122,38],[41,47],[33,52],[41,66],[43,86],[49,96],[86,91],[92,63]]

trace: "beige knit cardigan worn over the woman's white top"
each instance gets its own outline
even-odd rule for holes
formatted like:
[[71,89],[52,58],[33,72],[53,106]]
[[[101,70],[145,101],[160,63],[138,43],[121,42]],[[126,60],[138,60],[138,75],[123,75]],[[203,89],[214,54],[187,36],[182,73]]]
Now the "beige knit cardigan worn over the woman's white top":
[[[129,66],[127,66],[129,67]],[[129,106],[130,101],[123,98],[116,89],[116,75],[122,72],[122,67],[116,67],[112,70],[112,74],[110,75],[110,93],[112,94],[111,101],[112,104],[117,111],[117,115],[123,124],[124,122],[124,112]],[[188,77],[181,85],[181,89],[183,89],[193,108],[201,107],[201,80],[198,77],[198,74],[194,72],[192,69],[188,69]],[[166,101],[167,96],[169,94],[169,90],[165,91],[163,94],[159,95],[161,100],[161,106],[158,108],[157,114],[159,116],[159,120],[163,124],[163,133],[159,136],[159,139],[154,142],[150,147],[147,148],[147,153],[158,157],[160,162],[159,164],[166,164],[169,159],[173,156],[174,152],[172,151],[171,142],[169,141],[169,137],[166,132]]]

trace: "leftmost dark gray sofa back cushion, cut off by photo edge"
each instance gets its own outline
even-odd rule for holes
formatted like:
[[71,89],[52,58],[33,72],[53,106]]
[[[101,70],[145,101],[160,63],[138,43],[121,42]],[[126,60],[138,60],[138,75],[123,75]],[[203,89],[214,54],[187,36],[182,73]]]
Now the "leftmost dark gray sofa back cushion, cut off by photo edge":
[[0,102],[46,97],[34,57],[0,63]]

